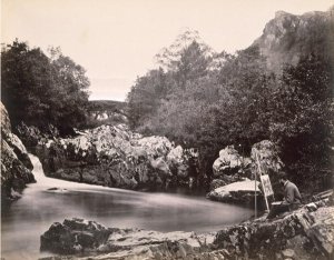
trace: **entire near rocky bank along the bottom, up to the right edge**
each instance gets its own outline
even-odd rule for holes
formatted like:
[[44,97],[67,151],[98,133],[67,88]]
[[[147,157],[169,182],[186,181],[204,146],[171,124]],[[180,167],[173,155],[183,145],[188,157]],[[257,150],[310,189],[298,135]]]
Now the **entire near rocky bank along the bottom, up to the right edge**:
[[285,217],[264,218],[215,233],[106,228],[67,219],[41,236],[47,259],[333,259],[334,207],[310,203]]

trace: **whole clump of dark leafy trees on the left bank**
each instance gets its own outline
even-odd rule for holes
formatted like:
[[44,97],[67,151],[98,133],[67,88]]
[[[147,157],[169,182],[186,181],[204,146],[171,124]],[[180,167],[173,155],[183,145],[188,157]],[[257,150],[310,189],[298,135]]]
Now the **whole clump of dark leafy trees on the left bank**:
[[39,48],[16,40],[1,51],[1,100],[13,126],[60,130],[80,127],[86,120],[89,80],[85,69],[59,49],[50,58]]

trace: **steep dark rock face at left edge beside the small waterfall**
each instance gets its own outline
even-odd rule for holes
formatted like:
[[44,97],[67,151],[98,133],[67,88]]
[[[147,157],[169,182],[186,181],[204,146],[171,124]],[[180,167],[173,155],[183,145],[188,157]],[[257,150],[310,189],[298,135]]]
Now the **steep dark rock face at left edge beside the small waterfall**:
[[1,113],[1,202],[20,197],[26,183],[35,182],[32,164],[21,140],[11,132],[11,124],[4,106]]

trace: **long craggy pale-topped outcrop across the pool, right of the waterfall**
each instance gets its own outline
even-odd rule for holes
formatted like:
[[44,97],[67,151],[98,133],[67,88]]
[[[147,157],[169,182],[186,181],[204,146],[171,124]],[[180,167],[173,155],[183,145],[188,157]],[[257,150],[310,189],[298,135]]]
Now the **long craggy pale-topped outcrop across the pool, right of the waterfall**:
[[73,138],[41,137],[21,126],[20,134],[35,143],[49,177],[136,190],[191,184],[195,152],[174,147],[165,137],[134,133],[125,124],[77,131]]

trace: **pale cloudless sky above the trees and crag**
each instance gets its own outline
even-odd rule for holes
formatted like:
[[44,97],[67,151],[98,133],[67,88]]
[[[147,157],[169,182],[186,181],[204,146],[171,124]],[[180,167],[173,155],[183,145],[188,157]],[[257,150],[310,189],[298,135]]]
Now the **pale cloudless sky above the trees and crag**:
[[154,56],[184,28],[234,52],[262,34],[275,12],[326,11],[333,0],[0,0],[1,42],[16,38],[62,53],[87,70],[90,99],[125,100]]

